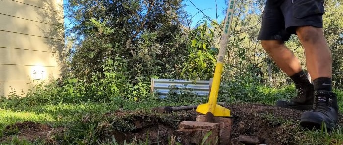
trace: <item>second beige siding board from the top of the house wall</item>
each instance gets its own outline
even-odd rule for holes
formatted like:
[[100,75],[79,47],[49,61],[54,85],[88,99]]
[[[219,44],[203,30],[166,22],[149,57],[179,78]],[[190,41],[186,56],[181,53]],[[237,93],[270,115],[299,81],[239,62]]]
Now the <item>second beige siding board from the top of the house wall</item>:
[[49,11],[12,0],[0,0],[0,14],[49,24],[63,23],[63,13]]

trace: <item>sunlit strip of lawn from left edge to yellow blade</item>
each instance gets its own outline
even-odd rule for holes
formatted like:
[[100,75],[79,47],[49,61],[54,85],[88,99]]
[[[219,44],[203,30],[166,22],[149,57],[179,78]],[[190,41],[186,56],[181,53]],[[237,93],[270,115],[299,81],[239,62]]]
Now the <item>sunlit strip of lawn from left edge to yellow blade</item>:
[[149,110],[157,106],[192,105],[186,103],[172,103],[161,101],[149,102],[111,102],[111,103],[82,103],[82,104],[58,104],[37,106],[15,106],[0,110],[0,125],[7,126],[15,122],[35,121],[38,123],[51,124],[52,126],[67,125],[76,121],[75,116],[86,114],[104,114],[120,109],[123,110]]

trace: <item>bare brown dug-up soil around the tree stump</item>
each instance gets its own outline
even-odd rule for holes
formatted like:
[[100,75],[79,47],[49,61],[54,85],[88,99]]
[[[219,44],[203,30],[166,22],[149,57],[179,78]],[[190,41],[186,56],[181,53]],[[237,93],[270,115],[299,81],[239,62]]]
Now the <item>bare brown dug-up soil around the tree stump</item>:
[[[232,104],[225,106],[231,110],[233,127],[231,132],[232,145],[243,145],[238,141],[240,135],[258,136],[267,145],[292,145],[292,132],[299,126],[302,111],[294,109],[279,108],[264,104]],[[115,111],[107,113],[107,117],[122,118],[128,124],[134,126],[133,130],[114,130],[110,135],[116,141],[123,143],[142,141],[147,139],[150,145],[168,145],[168,138],[172,136],[173,130],[178,129],[181,121],[195,121],[198,114],[195,110],[178,111],[173,113],[149,113],[148,111]],[[339,117],[339,125],[343,124],[343,117]],[[55,142],[47,134],[63,134],[63,128],[52,128],[45,124],[34,122],[16,123],[10,127],[18,127],[16,133],[20,139],[26,138],[34,141],[37,138]],[[10,139],[6,135],[0,141]],[[159,143],[158,143],[159,142]],[[55,142],[56,143],[56,142]]]

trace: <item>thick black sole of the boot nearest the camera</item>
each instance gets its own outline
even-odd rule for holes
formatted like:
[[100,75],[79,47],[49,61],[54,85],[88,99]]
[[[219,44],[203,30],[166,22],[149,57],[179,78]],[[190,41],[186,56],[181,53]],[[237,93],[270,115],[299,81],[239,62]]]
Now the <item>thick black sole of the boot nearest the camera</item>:
[[[321,125],[323,124],[323,120],[314,119],[314,118],[301,118],[300,125],[304,128],[312,130],[315,128],[316,130],[321,129]],[[334,123],[325,123],[327,131],[331,131],[334,127]]]

